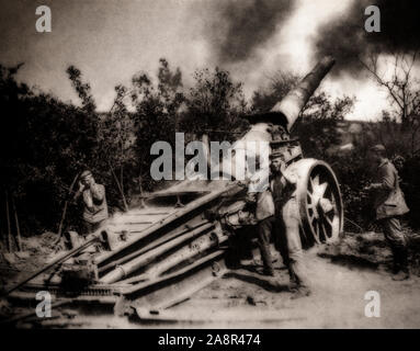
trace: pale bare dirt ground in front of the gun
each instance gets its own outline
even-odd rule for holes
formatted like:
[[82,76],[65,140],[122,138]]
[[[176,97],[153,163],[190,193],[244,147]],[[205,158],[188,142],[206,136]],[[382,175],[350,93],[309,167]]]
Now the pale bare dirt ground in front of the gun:
[[[411,235],[412,242],[418,236]],[[33,240],[33,239],[32,239]],[[48,236],[41,237],[41,242]],[[45,246],[26,242],[31,256],[8,263],[0,261],[1,279],[8,281],[42,267],[52,253]],[[47,252],[45,252],[47,251]],[[47,254],[46,254],[47,253]],[[280,258],[275,263],[280,286],[257,272],[258,256],[242,262],[224,278],[191,298],[167,310],[164,321],[145,324],[113,316],[72,316],[70,328],[420,328],[419,250],[411,245],[411,279],[391,280],[390,251],[382,234],[348,234],[338,244],[318,246],[305,252],[313,294],[292,299],[287,271]],[[27,273],[26,273],[27,274]],[[366,317],[365,294],[381,296],[381,317]],[[177,321],[174,320],[177,319]],[[61,327],[47,324],[49,327]],[[22,325],[22,327],[30,327]]]

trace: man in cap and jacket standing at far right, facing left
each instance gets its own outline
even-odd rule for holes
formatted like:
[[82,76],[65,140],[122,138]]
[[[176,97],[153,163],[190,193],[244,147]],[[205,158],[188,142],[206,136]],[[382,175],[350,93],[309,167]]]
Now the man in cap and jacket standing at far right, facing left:
[[409,279],[407,239],[398,216],[409,212],[404,193],[399,188],[398,172],[385,156],[385,147],[375,145],[370,149],[370,159],[377,166],[375,180],[365,190],[374,192],[376,220],[393,251],[393,280]]

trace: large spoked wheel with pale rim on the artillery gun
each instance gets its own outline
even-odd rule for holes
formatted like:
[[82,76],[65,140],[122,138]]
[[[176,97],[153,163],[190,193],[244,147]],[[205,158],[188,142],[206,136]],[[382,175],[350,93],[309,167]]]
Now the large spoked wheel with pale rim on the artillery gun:
[[296,197],[305,241],[334,241],[343,229],[343,205],[336,174],[326,162],[315,159],[303,159],[292,167],[298,174]]

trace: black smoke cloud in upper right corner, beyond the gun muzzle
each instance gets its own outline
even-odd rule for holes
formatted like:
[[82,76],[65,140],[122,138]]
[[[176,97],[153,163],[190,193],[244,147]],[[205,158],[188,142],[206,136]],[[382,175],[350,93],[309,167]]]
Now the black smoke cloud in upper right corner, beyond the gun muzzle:
[[[367,5],[381,10],[381,32],[367,33],[364,14]],[[405,53],[420,48],[420,1],[418,0],[355,0],[340,18],[320,27],[315,38],[317,58],[333,55],[336,72],[360,71],[360,60],[370,53]]]

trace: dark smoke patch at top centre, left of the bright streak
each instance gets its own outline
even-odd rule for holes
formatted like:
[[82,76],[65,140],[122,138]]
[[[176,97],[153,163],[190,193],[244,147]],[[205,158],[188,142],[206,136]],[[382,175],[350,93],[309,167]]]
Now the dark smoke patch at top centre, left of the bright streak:
[[217,1],[212,44],[218,63],[248,59],[276,32],[294,9],[294,0]]

